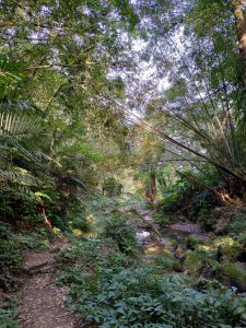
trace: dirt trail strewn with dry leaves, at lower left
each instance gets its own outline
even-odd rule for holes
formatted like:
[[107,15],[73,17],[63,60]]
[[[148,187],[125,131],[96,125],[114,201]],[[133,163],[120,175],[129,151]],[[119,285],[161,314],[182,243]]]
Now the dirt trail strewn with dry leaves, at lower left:
[[66,305],[68,289],[56,284],[55,254],[69,248],[62,239],[50,250],[28,250],[24,254],[19,323],[22,328],[82,328],[80,318]]

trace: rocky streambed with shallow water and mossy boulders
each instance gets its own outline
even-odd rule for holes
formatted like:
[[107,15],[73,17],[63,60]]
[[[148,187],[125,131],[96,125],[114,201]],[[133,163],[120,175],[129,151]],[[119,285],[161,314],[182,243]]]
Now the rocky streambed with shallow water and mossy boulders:
[[188,221],[160,226],[153,221],[153,211],[136,211],[145,223],[137,232],[143,261],[167,257],[177,263],[174,268],[179,272],[215,279],[238,292],[246,292],[246,235],[215,236]]

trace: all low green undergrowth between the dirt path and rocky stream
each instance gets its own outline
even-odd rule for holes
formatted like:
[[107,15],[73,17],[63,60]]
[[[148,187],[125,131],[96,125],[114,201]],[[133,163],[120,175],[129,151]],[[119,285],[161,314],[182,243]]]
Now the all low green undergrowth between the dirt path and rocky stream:
[[[119,214],[105,218],[96,239],[79,241],[59,254],[59,283],[70,288],[73,311],[103,328],[245,327],[244,294],[181,272],[181,262],[165,254],[145,261],[125,220]],[[190,254],[206,254],[198,249],[199,241],[187,243]]]

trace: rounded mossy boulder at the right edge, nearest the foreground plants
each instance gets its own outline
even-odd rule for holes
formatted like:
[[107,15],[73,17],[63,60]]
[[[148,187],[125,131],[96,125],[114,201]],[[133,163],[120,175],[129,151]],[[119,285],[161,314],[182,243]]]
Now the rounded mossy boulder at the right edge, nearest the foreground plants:
[[242,263],[221,263],[215,269],[215,277],[225,285],[236,286],[239,292],[246,292],[246,270]]

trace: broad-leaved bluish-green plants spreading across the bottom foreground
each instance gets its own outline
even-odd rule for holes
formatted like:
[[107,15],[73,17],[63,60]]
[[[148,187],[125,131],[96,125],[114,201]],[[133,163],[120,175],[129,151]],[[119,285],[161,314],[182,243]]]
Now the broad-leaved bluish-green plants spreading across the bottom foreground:
[[[218,284],[219,285],[219,284]],[[164,277],[156,266],[99,267],[80,273],[71,285],[70,302],[99,327],[235,327],[246,324],[246,298],[234,291],[198,291],[181,276]],[[227,326],[227,327],[229,327]]]

